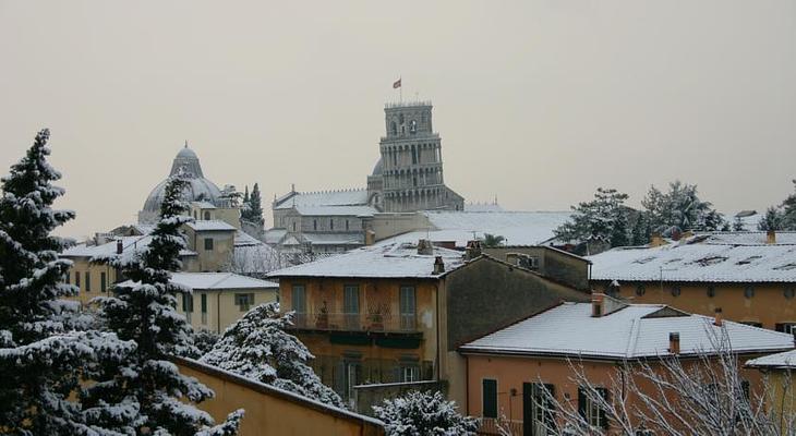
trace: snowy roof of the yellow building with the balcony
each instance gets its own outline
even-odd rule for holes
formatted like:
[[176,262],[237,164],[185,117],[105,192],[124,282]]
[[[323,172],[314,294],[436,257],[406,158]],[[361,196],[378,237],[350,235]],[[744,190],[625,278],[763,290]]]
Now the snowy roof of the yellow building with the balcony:
[[418,254],[415,245],[396,243],[365,246],[303,265],[279,269],[268,277],[371,277],[436,278],[434,258],[442,256],[445,271],[465,265],[461,252],[434,247],[434,254]]

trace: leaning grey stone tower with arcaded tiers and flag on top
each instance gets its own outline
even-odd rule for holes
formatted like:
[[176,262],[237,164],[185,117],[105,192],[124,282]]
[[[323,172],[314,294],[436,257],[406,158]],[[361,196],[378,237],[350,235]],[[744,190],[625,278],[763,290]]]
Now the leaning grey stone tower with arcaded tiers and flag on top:
[[[384,108],[387,135],[379,143],[382,158],[376,165],[384,211],[463,208],[465,199],[445,186],[442,144],[432,129],[431,112],[431,101]],[[378,175],[376,169],[372,178]],[[369,187],[375,187],[370,178]]]

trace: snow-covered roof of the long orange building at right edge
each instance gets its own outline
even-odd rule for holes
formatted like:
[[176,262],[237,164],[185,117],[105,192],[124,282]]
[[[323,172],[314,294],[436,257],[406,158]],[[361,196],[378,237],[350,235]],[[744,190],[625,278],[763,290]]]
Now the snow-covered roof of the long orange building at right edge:
[[[764,234],[763,234],[764,235]],[[758,233],[698,234],[656,247],[619,247],[587,257],[592,280],[796,282],[796,244],[759,243]]]

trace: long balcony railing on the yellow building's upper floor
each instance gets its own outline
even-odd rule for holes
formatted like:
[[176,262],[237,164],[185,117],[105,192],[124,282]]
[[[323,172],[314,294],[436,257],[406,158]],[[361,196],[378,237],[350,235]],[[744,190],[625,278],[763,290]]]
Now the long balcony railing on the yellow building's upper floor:
[[297,313],[293,328],[335,331],[418,331],[414,314]]

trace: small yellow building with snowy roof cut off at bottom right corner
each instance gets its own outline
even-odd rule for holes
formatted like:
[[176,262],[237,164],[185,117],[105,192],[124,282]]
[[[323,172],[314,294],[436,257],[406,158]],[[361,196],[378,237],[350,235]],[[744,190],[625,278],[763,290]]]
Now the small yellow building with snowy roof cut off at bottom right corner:
[[763,374],[769,389],[767,405],[774,422],[782,429],[796,428],[796,387],[793,377],[796,371],[796,350],[758,358],[747,362],[746,366]]

